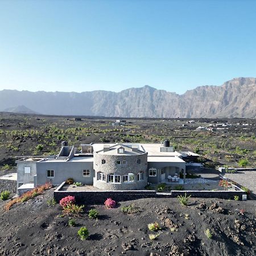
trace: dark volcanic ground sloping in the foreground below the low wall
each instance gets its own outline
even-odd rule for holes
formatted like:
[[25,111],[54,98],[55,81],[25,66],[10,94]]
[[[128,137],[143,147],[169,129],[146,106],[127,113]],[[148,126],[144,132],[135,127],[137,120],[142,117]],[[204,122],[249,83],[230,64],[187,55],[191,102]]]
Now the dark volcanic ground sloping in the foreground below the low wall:
[[[61,217],[59,204],[49,207],[53,189],[0,212],[0,255],[255,255],[255,201],[190,199],[187,207],[174,199],[140,199],[106,209],[86,205],[69,227],[70,217]],[[135,214],[121,207],[134,203]],[[215,205],[215,203],[217,205]],[[90,220],[88,210],[96,208],[98,220]],[[243,212],[241,214],[240,212]],[[187,215],[188,214],[188,215]],[[158,222],[160,236],[152,241],[147,225]],[[89,229],[88,240],[77,231]],[[205,235],[210,229],[211,239]]]

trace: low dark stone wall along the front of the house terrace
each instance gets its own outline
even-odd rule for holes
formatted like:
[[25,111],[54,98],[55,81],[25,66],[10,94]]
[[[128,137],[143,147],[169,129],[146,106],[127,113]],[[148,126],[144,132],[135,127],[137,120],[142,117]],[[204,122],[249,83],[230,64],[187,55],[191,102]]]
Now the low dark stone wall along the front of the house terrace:
[[61,191],[65,183],[62,183],[53,193],[54,198],[59,202],[65,196],[75,196],[77,203],[82,204],[103,204],[104,201],[111,197],[115,201],[129,201],[143,198],[170,198],[178,195],[191,195],[192,197],[210,197],[221,199],[234,199],[234,196],[239,196],[242,200],[242,195],[246,195],[244,191],[171,191],[170,193],[157,193],[150,190],[137,191]]

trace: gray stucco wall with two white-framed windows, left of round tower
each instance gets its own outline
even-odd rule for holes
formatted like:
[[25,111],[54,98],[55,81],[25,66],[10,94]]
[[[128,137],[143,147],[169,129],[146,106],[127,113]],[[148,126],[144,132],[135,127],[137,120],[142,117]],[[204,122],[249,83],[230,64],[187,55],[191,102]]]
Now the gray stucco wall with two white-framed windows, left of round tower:
[[[93,162],[37,162],[36,169],[38,185],[46,182],[59,185],[69,177],[72,177],[75,182],[86,185],[93,184]],[[47,170],[54,170],[54,177],[47,177]],[[90,170],[90,177],[84,177],[82,170]]]

